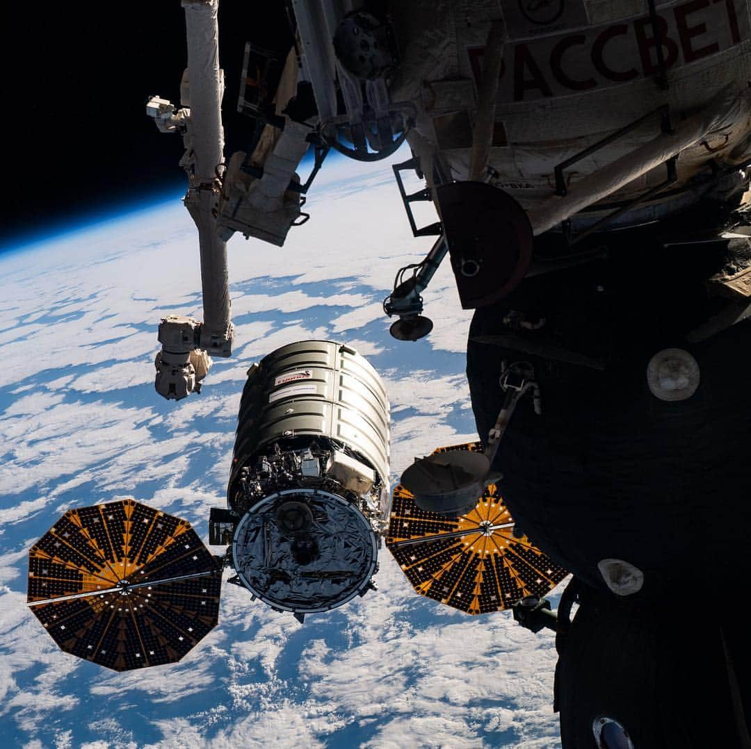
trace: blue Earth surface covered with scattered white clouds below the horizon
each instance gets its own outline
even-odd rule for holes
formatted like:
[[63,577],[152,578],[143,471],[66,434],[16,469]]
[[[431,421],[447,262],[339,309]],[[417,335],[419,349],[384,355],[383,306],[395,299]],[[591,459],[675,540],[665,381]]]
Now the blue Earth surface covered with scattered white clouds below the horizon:
[[[400,154],[398,158],[403,158]],[[159,317],[201,317],[198,242],[179,204],[0,260],[0,726],[29,747],[555,747],[553,639],[414,594],[382,549],[379,591],[300,625],[225,585],[182,663],[115,674],[58,650],[25,605],[26,551],[68,507],[132,495],[206,533],[225,504],[246,370],[285,343],[346,340],[382,371],[393,476],[476,438],[469,313],[448,263],[436,323],[394,341],[382,299],[430,242],[409,237],[391,169],[324,169],[285,248],[229,246],[232,359],[200,396],[152,389]],[[339,174],[339,176],[336,176]],[[215,549],[216,551],[216,549]]]

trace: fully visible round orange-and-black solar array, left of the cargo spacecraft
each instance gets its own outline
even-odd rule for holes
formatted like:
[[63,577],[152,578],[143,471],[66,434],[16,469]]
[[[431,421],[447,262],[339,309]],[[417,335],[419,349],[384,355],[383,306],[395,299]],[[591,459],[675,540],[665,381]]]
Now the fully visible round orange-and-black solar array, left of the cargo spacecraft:
[[116,671],[180,660],[219,621],[222,567],[189,522],[125,499],[68,510],[29,551],[27,603]]

